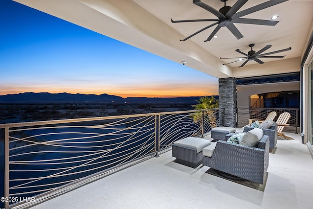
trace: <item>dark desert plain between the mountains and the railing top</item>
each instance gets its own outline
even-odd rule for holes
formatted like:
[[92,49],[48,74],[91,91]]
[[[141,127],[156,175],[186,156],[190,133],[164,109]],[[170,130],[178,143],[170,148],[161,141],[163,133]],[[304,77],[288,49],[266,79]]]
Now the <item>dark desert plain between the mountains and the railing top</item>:
[[2,104],[0,123],[192,110],[191,104]]

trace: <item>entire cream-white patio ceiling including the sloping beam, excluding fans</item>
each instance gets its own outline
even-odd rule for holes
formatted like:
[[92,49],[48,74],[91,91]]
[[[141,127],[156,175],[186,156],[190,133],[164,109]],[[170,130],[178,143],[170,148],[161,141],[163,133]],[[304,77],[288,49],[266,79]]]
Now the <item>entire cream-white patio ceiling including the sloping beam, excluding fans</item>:
[[[226,27],[222,27],[217,33],[218,38],[204,43],[216,27],[213,26],[181,42],[179,39],[184,39],[211,22],[171,23],[171,18],[216,19],[216,16],[193,4],[192,0],[16,1],[175,62],[186,61],[187,66],[219,78],[299,71],[313,22],[313,0],[289,0],[244,16],[270,20],[273,15],[278,15],[279,23],[275,26],[235,23],[244,38],[237,40]],[[224,6],[221,0],[201,1],[217,10]],[[228,0],[226,5],[233,6],[236,1]],[[266,1],[249,0],[238,11]],[[223,65],[236,59],[221,60],[220,57],[242,57],[235,49],[247,53],[249,44],[255,44],[255,51],[272,45],[263,53],[288,47],[291,50],[273,54],[286,55],[282,59],[261,59],[265,62],[263,65],[254,61],[249,61],[243,68],[238,66],[244,61]]]

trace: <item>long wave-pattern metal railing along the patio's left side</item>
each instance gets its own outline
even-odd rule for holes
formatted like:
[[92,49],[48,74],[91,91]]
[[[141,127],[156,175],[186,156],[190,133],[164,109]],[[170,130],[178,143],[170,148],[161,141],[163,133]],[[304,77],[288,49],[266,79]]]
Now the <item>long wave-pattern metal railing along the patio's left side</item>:
[[[176,140],[204,135],[223,125],[221,113],[224,109],[2,124],[5,197],[22,208],[25,203],[15,200],[47,196],[157,155]],[[11,206],[6,202],[6,208]]]

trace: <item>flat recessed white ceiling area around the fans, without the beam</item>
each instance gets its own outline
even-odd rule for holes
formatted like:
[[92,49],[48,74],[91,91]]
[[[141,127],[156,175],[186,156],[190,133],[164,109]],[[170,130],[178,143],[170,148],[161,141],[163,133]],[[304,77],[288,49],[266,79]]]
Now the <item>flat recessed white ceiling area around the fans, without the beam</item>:
[[[191,0],[134,1],[154,14],[157,18],[179,31],[182,34],[181,39],[211,24],[211,22],[171,23],[171,18],[173,18],[173,20],[216,19],[216,16],[193,4]],[[228,0],[226,5],[232,6],[236,1],[237,0]],[[202,2],[207,3],[217,10],[224,6],[224,2],[221,0],[202,0]],[[255,6],[261,2],[265,1],[249,0],[239,11]],[[237,40],[226,27],[222,27],[217,33],[217,35],[219,35],[217,39],[212,39],[210,42],[204,43],[203,41],[207,39],[216,26],[192,37],[191,40],[216,57],[241,57],[242,55],[236,52],[235,49],[239,48],[247,53],[247,51],[250,50],[248,45],[252,43],[255,44],[253,47],[255,51],[258,51],[266,45],[272,45],[266,52],[291,47],[291,51],[283,52],[279,55],[286,55],[285,58],[300,56],[305,37],[309,32],[309,26],[313,19],[313,1],[287,1],[246,15],[245,18],[270,20],[273,15],[278,15],[279,18],[277,20],[280,21],[275,26],[235,23],[236,27],[244,36],[244,38],[239,40]],[[275,59],[269,59],[269,61],[273,60]],[[242,63],[243,62],[237,62],[231,66],[240,66]],[[252,61],[249,63],[254,64]]]

